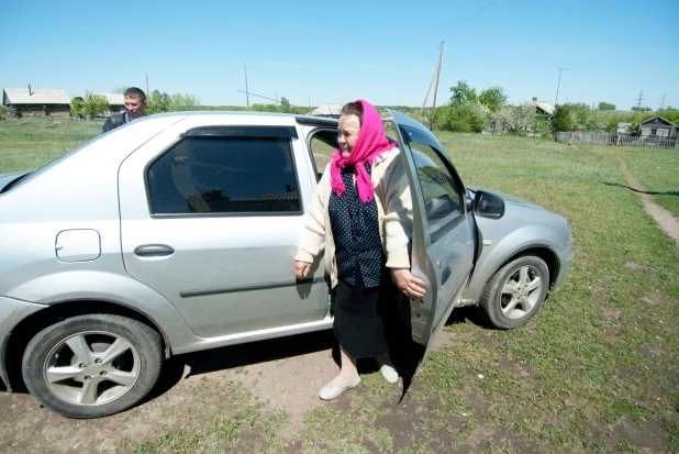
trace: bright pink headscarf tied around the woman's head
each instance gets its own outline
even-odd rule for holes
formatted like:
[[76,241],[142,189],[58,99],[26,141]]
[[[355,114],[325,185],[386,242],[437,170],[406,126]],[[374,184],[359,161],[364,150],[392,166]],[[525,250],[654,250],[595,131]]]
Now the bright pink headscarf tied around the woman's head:
[[393,144],[389,143],[385,134],[382,119],[377,109],[363,99],[356,100],[355,102],[360,102],[363,104],[363,124],[360,125],[360,132],[358,133],[356,145],[352,148],[349,157],[342,157],[342,150],[335,150],[330,165],[330,181],[333,192],[335,192],[337,197],[342,197],[345,190],[344,181],[342,180],[342,169],[344,166],[353,165],[354,174],[356,175],[358,197],[364,203],[368,203],[375,198],[375,188],[372,187],[370,175],[366,170],[365,163],[368,162],[372,165],[380,154],[393,148]]

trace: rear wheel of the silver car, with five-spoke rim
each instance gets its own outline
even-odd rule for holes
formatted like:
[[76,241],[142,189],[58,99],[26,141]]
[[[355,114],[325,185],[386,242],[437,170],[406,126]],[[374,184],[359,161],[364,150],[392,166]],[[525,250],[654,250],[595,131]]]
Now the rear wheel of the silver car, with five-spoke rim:
[[26,387],[43,407],[79,419],[137,403],[162,367],[158,332],[113,314],[77,315],[45,328],[29,342],[22,362]]

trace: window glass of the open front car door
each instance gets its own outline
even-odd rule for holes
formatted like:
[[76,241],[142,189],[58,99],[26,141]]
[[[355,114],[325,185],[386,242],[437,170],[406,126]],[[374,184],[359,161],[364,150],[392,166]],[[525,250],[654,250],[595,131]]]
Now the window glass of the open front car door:
[[428,144],[410,142],[432,242],[463,214],[464,189],[444,159]]

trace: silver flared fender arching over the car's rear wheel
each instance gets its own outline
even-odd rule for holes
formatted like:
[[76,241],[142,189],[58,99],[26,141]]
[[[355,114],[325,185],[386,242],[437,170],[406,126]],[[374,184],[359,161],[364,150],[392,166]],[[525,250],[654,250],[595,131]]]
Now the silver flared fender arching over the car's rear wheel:
[[[96,287],[94,287],[96,286]],[[69,270],[54,273],[22,283],[7,297],[36,304],[103,301],[129,308],[152,320],[160,330],[169,350],[196,342],[181,313],[151,287],[115,273]]]

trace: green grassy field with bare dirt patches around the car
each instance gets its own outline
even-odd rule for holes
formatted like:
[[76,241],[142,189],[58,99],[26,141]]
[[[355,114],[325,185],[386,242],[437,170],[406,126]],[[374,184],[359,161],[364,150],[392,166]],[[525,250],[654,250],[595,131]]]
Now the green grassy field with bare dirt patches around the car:
[[[0,173],[37,168],[100,128],[0,122]],[[321,353],[330,362],[324,352],[332,336],[322,334],[297,336],[303,347],[275,341],[174,358],[148,401],[103,420],[64,420],[27,396],[0,395],[0,451],[36,447],[41,438],[29,433],[38,424],[47,428],[45,440],[69,433],[70,441],[54,442],[56,452],[679,452],[679,254],[620,168],[624,159],[654,200],[679,217],[679,153],[437,136],[465,182],[536,202],[571,222],[570,274],[528,325],[498,331],[471,308],[454,311],[400,405],[400,386],[385,384],[369,365],[359,388],[318,401],[316,383],[308,378],[316,372],[304,369],[304,358]],[[294,379],[276,378],[313,402],[299,421],[294,402],[272,405],[281,386],[270,375],[290,364]],[[189,365],[190,375],[203,370],[200,377],[182,373]],[[268,396],[261,383],[270,384]],[[180,401],[167,403],[176,389]],[[12,423],[23,424],[26,440],[9,435]],[[135,425],[151,429],[140,433]],[[107,443],[88,443],[90,431],[105,431]],[[74,440],[74,433],[81,435]]]

